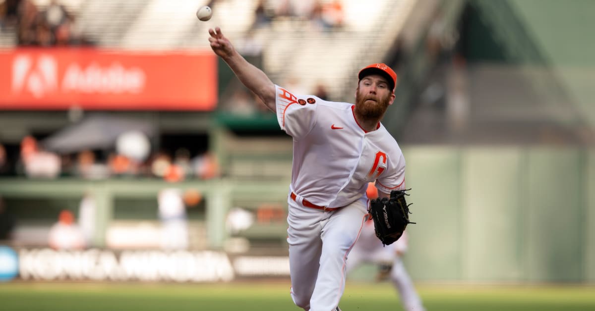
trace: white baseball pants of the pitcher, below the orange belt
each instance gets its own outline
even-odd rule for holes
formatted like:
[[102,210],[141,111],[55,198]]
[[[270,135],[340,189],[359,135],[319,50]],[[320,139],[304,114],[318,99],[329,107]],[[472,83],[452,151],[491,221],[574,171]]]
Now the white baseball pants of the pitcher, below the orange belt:
[[306,311],[333,311],[345,290],[347,255],[367,218],[367,200],[321,211],[301,199],[288,199],[292,299]]

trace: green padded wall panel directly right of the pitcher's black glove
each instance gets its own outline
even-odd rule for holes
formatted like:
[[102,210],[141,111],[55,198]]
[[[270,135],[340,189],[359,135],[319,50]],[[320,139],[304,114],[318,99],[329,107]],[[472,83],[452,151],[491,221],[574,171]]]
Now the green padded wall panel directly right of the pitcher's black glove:
[[461,169],[452,148],[415,147],[404,151],[406,186],[411,188],[409,252],[405,263],[417,279],[461,276]]

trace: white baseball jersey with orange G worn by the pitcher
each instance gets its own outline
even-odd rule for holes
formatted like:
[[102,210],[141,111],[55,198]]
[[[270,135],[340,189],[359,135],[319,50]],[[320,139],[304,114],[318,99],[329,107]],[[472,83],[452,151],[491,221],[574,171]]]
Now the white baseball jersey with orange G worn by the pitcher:
[[351,103],[295,96],[279,86],[275,92],[277,120],[293,137],[294,193],[334,208],[361,199],[368,182],[384,193],[404,184],[405,158],[382,124],[367,132]]

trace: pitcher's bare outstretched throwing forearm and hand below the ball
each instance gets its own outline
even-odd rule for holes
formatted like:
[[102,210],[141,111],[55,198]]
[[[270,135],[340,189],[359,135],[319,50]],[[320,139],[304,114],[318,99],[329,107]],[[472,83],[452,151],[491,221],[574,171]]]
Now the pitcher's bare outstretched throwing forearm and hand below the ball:
[[275,84],[273,81],[262,70],[246,61],[233,48],[230,40],[221,33],[219,27],[216,27],[215,30],[209,29],[209,34],[211,34],[209,42],[211,42],[213,52],[227,63],[237,78],[255,93],[268,109],[275,111]]

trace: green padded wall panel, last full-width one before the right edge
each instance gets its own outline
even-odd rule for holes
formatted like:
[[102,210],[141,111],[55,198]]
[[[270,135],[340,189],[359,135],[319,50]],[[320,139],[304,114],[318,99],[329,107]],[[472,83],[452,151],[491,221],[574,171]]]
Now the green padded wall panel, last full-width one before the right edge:
[[528,281],[582,279],[580,151],[534,148],[528,151],[526,169]]

